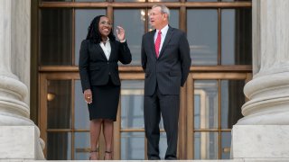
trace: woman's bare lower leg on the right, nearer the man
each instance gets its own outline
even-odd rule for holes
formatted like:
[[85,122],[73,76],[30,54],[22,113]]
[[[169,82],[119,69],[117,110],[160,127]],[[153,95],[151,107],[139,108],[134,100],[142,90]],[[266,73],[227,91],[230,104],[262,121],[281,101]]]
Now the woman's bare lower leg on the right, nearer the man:
[[103,135],[105,136],[105,140],[106,140],[105,159],[108,159],[108,160],[112,159],[111,145],[112,145],[113,130],[114,130],[114,122],[111,120],[104,120],[103,121]]

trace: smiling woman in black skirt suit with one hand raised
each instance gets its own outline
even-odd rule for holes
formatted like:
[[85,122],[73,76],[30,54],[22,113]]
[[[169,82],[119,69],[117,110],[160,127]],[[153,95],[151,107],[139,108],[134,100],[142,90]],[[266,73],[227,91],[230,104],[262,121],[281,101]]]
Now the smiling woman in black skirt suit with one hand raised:
[[86,40],[81,42],[79,75],[84,99],[89,106],[90,156],[98,159],[98,139],[103,125],[106,142],[104,159],[112,159],[113,121],[117,120],[120,94],[118,65],[129,64],[132,55],[127,47],[125,30],[117,26],[117,39],[105,15],[98,15],[89,25]]

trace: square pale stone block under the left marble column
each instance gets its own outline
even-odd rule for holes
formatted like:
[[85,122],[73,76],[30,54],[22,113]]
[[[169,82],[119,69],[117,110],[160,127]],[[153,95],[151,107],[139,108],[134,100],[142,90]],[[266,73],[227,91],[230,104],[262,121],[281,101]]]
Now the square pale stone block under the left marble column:
[[1,159],[45,159],[35,126],[0,126]]

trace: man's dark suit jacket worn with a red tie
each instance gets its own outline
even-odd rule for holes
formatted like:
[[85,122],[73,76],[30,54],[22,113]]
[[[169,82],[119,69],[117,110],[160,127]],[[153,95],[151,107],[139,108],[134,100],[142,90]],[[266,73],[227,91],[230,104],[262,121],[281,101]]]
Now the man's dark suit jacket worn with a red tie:
[[152,95],[156,83],[161,94],[180,94],[191,67],[189,42],[183,31],[172,28],[166,33],[159,58],[154,49],[154,31],[142,41],[142,67],[145,72],[144,95]]

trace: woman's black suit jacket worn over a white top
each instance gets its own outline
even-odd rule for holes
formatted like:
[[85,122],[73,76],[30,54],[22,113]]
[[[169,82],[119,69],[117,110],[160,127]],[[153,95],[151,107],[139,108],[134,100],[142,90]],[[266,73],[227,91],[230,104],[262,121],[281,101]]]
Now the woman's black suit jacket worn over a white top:
[[120,85],[118,75],[118,60],[123,64],[132,61],[132,55],[126,42],[110,40],[111,53],[107,57],[99,44],[90,40],[81,42],[79,52],[79,75],[82,90],[90,89],[91,85],[106,85],[111,76],[114,85]]

